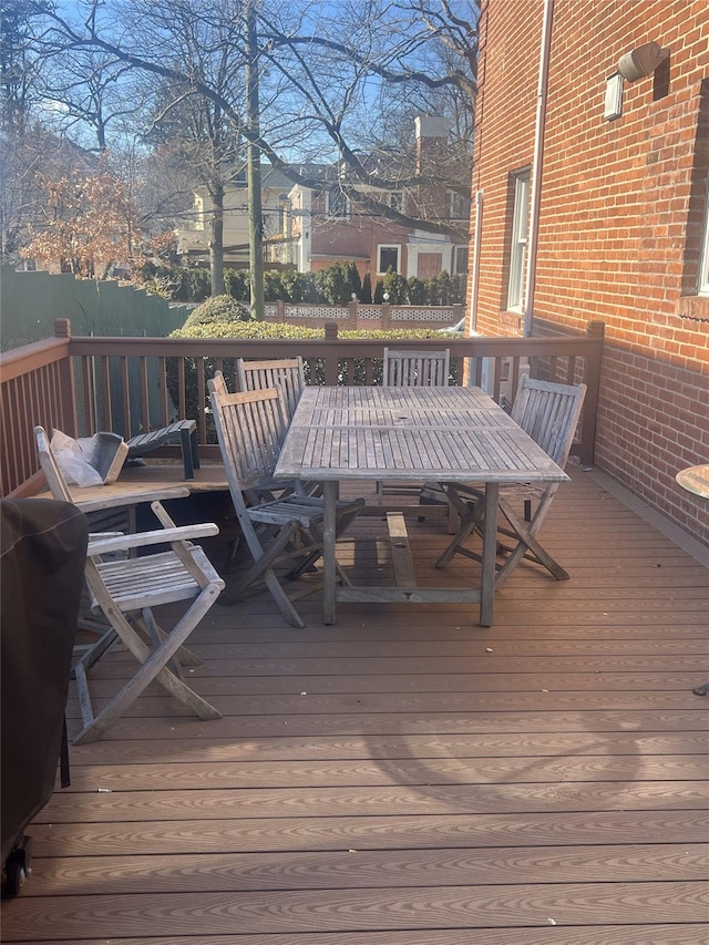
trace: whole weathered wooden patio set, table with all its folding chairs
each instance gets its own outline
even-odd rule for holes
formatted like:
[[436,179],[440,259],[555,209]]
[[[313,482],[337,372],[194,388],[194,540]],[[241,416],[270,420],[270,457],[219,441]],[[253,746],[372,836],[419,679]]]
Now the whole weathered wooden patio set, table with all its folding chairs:
[[[209,400],[228,489],[248,564],[220,575],[198,544],[216,524],[177,525],[166,499],[187,489],[148,493],[120,481],[92,509],[151,502],[156,527],[90,534],[85,582],[91,608],[103,626],[76,660],[82,728],[74,743],[101,738],[145,688],[157,681],[202,719],[220,712],[185,681],[198,662],[187,641],[214,604],[229,605],[268,588],[284,619],[305,626],[288,593],[308,575],[321,577],[325,624],[337,605],[455,603],[480,606],[480,623],[493,623],[494,594],[523,559],[561,581],[568,574],[543,547],[540,530],[561,483],[583,407],[584,384],[558,384],[523,376],[507,414],[476,387],[449,386],[448,351],[384,351],[377,387],[306,386],[300,358],[236,363],[238,390],[217,371]],[[52,497],[74,502],[47,432],[35,428],[40,464]],[[340,486],[368,483],[364,499],[343,499]],[[388,505],[398,485],[413,490],[413,504]],[[387,487],[388,486],[388,487]],[[356,487],[356,486],[353,486]],[[456,556],[480,563],[474,586],[420,586],[408,518],[427,504],[446,513],[451,538],[435,562],[442,573]],[[358,586],[337,557],[351,523],[372,511],[387,523],[392,579]],[[321,562],[318,567],[318,563]],[[153,608],[188,606],[163,629]],[[92,706],[92,666],[119,640],[137,668],[99,711]]]

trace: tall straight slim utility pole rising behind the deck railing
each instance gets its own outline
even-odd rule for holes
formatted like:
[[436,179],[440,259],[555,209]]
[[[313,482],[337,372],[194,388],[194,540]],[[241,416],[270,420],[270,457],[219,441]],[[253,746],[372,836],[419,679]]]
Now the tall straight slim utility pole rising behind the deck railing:
[[248,187],[248,263],[251,289],[251,317],[264,320],[264,215],[261,212],[260,150],[254,143],[260,133],[258,114],[258,40],[256,4],[246,6],[246,184]]

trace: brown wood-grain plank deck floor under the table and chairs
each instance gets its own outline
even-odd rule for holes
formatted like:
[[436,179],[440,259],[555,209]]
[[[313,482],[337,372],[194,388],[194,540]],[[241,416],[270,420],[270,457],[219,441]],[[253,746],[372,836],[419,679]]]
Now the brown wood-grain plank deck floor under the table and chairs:
[[[215,607],[191,675],[224,719],[151,689],[71,750],[2,942],[706,942],[709,571],[573,479],[542,531],[572,579],[523,565],[489,629],[453,605],[340,604],[325,627],[317,593],[302,630],[268,595]],[[356,527],[384,581],[383,523]],[[444,523],[409,531],[440,579]],[[111,654],[94,695],[127,671]]]

